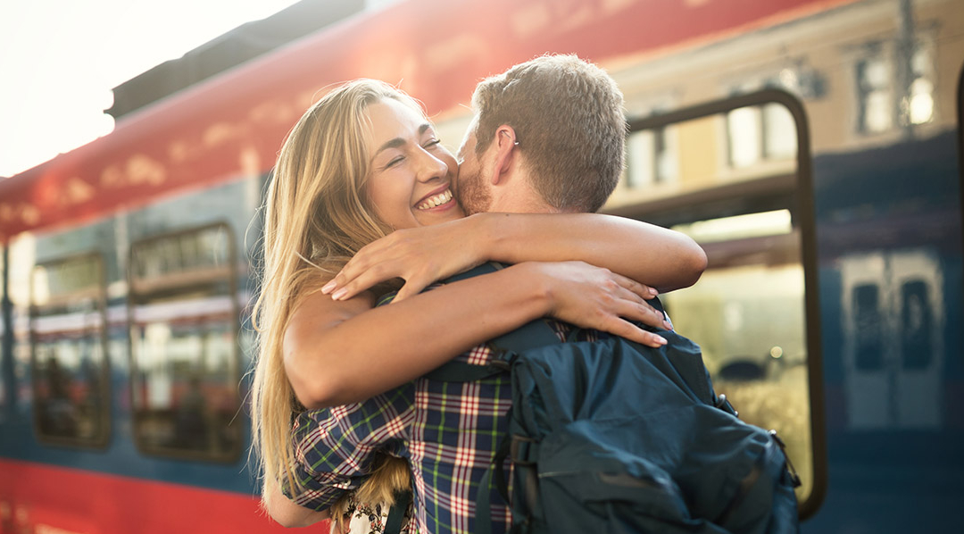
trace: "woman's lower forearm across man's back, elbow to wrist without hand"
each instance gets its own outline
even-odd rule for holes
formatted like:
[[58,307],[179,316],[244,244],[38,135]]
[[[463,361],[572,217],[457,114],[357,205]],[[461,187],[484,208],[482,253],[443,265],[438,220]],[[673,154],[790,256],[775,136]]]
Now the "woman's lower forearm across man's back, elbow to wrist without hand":
[[411,381],[469,348],[547,315],[552,303],[532,265],[508,267],[371,307],[316,292],[284,338],[285,371],[307,408],[358,402]]

